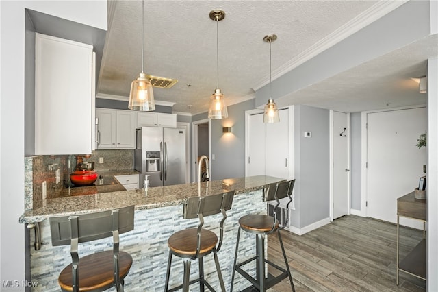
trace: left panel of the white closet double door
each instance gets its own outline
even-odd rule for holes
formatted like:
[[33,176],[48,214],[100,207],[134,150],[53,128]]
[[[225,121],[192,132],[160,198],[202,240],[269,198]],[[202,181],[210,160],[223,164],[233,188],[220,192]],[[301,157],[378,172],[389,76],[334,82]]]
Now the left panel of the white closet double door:
[[248,176],[265,175],[266,125],[263,113],[253,114],[248,121]]

